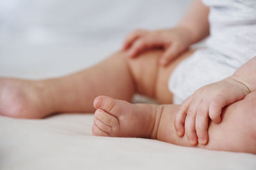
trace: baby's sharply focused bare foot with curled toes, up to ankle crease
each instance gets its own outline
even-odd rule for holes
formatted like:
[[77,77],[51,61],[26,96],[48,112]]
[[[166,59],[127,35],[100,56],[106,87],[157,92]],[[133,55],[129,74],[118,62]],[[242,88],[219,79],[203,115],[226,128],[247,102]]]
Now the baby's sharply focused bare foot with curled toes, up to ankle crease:
[[93,135],[156,138],[160,106],[131,104],[106,96],[97,97],[93,106],[97,109],[93,119]]

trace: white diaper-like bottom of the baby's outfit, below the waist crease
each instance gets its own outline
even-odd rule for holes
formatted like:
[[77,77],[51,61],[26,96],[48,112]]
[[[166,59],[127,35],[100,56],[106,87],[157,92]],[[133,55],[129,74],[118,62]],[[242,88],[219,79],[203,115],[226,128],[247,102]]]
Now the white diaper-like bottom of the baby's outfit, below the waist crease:
[[200,87],[232,75],[242,63],[209,48],[197,50],[180,62],[170,76],[168,87],[173,104],[180,104]]

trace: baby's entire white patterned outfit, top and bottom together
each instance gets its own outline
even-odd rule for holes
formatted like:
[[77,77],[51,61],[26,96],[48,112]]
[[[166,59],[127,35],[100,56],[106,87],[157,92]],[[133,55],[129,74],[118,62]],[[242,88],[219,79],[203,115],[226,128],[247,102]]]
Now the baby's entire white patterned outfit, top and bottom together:
[[170,76],[173,103],[196,89],[232,75],[256,55],[256,0],[202,0],[209,6],[206,48],[182,61]]

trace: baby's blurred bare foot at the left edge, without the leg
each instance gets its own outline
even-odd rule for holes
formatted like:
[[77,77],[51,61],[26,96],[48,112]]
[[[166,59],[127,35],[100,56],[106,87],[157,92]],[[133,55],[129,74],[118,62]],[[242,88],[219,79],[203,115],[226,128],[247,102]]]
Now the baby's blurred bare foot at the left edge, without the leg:
[[42,118],[47,115],[42,91],[34,81],[0,78],[0,115]]

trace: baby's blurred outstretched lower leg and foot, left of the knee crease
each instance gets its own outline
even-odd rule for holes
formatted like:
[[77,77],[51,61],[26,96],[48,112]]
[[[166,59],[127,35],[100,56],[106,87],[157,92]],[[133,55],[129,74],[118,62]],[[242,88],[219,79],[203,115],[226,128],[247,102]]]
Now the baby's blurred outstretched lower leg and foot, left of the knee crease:
[[134,82],[124,53],[60,78],[0,78],[0,114],[42,118],[56,112],[92,112],[93,99],[100,94],[131,100]]

